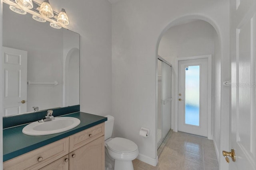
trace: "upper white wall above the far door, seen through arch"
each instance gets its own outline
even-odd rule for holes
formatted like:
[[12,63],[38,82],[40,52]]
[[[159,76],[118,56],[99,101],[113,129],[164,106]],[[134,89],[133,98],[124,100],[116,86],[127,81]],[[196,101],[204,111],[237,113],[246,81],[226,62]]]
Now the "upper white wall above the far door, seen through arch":
[[171,27],[160,41],[158,55],[171,64],[177,57],[213,55],[214,31],[210,23],[202,20]]

